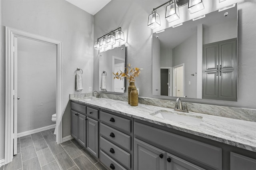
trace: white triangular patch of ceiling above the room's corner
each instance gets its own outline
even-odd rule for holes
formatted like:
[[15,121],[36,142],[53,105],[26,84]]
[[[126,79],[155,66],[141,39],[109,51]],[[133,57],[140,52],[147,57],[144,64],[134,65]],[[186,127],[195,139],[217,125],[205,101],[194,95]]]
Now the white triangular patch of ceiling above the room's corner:
[[111,0],[66,0],[82,10],[95,15]]

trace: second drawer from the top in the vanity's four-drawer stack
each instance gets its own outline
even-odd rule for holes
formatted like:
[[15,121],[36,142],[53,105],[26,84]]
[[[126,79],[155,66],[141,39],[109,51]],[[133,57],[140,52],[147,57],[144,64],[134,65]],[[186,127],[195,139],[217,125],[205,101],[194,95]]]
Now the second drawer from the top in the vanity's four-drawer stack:
[[104,125],[103,123],[100,123],[100,134],[111,142],[115,142],[128,150],[131,148],[131,136]]

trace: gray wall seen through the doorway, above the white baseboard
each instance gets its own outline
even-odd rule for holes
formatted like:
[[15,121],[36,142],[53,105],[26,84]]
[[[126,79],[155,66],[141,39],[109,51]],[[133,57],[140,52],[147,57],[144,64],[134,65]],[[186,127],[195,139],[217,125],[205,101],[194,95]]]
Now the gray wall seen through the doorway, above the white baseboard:
[[55,124],[57,46],[18,37],[18,133]]

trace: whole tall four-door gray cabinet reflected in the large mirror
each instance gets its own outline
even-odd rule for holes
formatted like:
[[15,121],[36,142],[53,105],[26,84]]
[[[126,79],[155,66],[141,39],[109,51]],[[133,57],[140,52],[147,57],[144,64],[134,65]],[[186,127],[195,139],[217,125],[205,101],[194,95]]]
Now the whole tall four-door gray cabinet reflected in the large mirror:
[[203,99],[237,100],[236,38],[204,45]]

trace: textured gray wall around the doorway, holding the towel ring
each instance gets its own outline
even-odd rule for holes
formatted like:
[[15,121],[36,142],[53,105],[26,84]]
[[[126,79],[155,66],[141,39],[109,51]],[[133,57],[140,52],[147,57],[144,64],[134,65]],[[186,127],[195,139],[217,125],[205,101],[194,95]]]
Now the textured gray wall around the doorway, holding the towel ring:
[[[93,86],[93,16],[65,0],[1,0],[4,26],[16,28],[62,41],[62,110],[64,112],[62,136],[70,135],[69,94],[75,92],[76,67],[83,69],[84,90]],[[1,36],[0,55],[0,159],[4,158],[4,38]],[[66,110],[65,110],[66,108]]]

